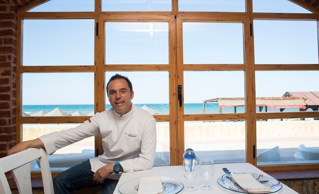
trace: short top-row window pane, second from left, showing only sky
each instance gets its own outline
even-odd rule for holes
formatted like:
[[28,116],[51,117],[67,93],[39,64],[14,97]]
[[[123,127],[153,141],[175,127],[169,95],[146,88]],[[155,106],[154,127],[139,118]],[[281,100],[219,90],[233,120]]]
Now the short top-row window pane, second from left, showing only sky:
[[172,1],[102,0],[102,11],[172,11]]

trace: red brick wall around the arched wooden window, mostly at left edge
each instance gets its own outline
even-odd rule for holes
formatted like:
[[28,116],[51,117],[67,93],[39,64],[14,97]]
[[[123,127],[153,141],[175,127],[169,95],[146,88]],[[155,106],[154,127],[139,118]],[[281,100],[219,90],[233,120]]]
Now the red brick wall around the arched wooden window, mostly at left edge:
[[[16,140],[17,9],[32,1],[0,0],[0,158]],[[319,0],[299,1],[319,9]]]

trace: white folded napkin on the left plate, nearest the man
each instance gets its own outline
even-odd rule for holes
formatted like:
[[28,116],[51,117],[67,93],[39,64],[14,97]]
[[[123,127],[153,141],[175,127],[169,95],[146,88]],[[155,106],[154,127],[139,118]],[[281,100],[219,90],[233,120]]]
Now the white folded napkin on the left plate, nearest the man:
[[137,194],[162,194],[163,186],[160,176],[141,177]]

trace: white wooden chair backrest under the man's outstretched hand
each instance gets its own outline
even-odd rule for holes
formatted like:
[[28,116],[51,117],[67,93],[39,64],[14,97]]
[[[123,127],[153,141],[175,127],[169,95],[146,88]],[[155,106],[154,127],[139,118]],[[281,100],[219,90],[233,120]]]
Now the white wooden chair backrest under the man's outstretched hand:
[[11,193],[5,172],[11,174],[17,184],[20,194],[32,194],[31,187],[31,161],[39,158],[44,193],[54,193],[52,175],[47,158],[47,153],[43,148],[29,148],[19,153],[0,158],[0,193]]

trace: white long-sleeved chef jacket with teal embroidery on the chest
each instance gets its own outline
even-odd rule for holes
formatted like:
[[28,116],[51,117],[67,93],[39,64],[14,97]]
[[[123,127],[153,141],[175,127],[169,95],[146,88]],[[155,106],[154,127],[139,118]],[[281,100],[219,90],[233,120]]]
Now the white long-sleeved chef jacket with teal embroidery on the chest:
[[[55,131],[39,137],[48,154],[91,136],[102,137],[104,153],[90,159],[91,170],[120,162],[124,172],[152,168],[156,150],[156,121],[142,108],[132,104],[132,110],[122,117],[113,108],[96,113],[77,127]],[[121,173],[108,178],[119,179]]]

